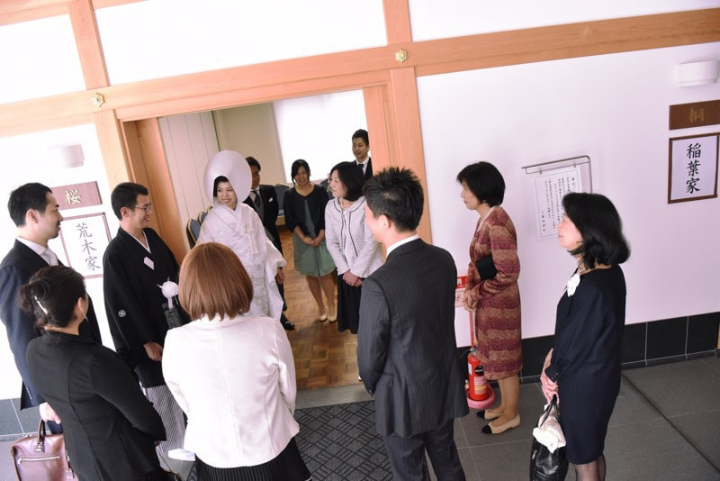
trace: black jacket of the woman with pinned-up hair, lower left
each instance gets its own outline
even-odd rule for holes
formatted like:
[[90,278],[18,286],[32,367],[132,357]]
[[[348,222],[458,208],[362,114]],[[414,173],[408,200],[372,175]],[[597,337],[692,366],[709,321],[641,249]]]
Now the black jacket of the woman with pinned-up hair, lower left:
[[111,349],[45,331],[31,340],[27,361],[40,393],[62,420],[79,479],[138,479],[159,469],[154,441],[166,439],[162,420]]

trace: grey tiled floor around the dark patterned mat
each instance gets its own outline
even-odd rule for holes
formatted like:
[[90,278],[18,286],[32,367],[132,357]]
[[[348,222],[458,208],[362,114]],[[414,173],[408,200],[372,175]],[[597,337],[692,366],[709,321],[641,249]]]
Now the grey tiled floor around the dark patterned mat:
[[[366,401],[362,385],[302,391],[298,408]],[[468,480],[527,479],[532,429],[544,399],[536,384],[520,386],[518,429],[482,434],[474,412],[455,422]],[[0,443],[8,452],[11,442]],[[606,441],[608,481],[720,481],[720,358],[699,358],[623,371]],[[186,473],[187,465],[180,467]],[[0,481],[14,479],[0,457]],[[574,473],[567,477],[575,479]]]

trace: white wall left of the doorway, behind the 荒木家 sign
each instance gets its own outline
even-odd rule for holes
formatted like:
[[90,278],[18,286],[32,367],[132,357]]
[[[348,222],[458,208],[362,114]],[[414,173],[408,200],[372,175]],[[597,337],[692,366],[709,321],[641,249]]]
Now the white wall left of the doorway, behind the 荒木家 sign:
[[[51,163],[49,147],[59,145],[81,145],[85,158],[82,167],[62,168]],[[100,154],[100,144],[94,125],[78,125],[67,129],[38,132],[15,137],[0,138],[0,159],[3,159],[3,176],[0,176],[0,256],[13,247],[17,229],[7,212],[7,199],[17,186],[27,182],[40,182],[46,186],[66,186],[83,182],[97,182],[102,205],[61,210],[64,216],[76,216],[89,213],[104,213],[111,237],[115,236],[119,223],[112,213],[110,204],[111,187]],[[65,232],[64,235],[72,235]],[[58,259],[67,265],[65,251],[59,237],[49,241],[49,247],[58,255]],[[98,253],[102,259],[103,252]],[[105,316],[103,297],[103,278],[86,279],[87,292],[93,298],[95,314],[100,323],[103,344],[112,348],[112,338]],[[7,337],[0,335],[0,399],[18,397],[21,380],[15,369],[13,354],[7,344]]]

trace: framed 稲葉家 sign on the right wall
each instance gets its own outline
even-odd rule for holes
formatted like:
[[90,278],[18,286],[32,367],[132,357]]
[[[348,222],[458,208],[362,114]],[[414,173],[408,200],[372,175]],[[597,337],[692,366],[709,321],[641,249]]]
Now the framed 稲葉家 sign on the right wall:
[[717,197],[720,132],[670,140],[668,204]]

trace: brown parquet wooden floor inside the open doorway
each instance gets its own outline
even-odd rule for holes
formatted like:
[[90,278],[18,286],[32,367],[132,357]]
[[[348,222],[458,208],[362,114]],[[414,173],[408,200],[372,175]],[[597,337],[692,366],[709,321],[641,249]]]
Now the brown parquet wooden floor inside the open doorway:
[[284,227],[278,230],[287,260],[285,315],[295,323],[295,331],[287,331],[287,337],[293,346],[298,390],[359,383],[357,336],[350,331],[339,332],[337,323],[318,321],[318,305],[308,283],[294,269],[292,235]]

